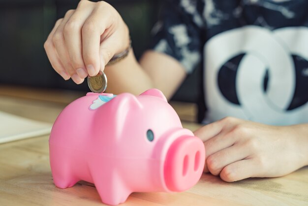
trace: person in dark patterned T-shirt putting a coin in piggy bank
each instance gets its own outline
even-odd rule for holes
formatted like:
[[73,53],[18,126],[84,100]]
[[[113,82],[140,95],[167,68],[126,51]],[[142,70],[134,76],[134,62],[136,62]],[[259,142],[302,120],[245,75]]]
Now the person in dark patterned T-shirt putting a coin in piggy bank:
[[204,171],[228,182],[276,177],[308,165],[307,8],[306,0],[168,0],[137,62],[120,14],[81,0],[44,47],[65,80],[80,84],[104,70],[116,94],[155,87],[170,98],[203,62],[207,125],[195,135]]

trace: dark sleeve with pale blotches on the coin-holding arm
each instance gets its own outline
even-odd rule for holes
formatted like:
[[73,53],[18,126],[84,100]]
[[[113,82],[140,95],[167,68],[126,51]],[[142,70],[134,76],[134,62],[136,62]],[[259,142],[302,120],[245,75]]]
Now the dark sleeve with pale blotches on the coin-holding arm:
[[152,30],[151,49],[178,60],[186,73],[200,63],[204,46],[200,0],[166,0]]

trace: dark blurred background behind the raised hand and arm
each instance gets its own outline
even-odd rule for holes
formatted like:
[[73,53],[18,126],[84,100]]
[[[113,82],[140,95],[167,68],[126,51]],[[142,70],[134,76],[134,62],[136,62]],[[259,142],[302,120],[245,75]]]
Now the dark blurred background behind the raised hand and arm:
[[[129,27],[135,55],[147,49],[150,31],[159,18],[163,0],[106,0]],[[57,19],[79,0],[0,0],[0,84],[88,92],[81,85],[64,81],[51,67],[43,44]],[[201,69],[187,76],[173,100],[196,102]]]

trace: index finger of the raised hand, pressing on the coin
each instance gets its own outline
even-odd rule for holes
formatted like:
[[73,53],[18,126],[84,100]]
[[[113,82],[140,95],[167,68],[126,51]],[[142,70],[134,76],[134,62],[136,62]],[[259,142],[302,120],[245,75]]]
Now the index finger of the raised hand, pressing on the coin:
[[82,28],[82,56],[88,73],[94,76],[100,70],[100,36],[112,24],[112,7],[104,2],[97,2],[91,16]]

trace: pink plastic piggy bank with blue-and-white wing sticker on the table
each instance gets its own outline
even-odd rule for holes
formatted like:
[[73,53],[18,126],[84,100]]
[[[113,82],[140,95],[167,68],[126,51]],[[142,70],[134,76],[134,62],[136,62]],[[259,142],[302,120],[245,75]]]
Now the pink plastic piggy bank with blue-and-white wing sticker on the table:
[[180,192],[200,179],[203,142],[183,129],[157,89],[139,96],[88,93],[61,112],[49,139],[55,185],[95,184],[103,203],[132,192]]

